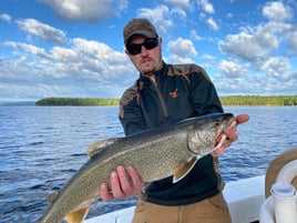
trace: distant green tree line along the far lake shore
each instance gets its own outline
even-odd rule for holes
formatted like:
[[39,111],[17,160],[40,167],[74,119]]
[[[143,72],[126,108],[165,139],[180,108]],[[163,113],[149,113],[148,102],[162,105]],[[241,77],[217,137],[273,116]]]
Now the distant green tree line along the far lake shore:
[[[219,97],[223,105],[296,107],[297,95],[231,95]],[[103,98],[45,98],[35,102],[40,107],[112,107],[119,99]]]

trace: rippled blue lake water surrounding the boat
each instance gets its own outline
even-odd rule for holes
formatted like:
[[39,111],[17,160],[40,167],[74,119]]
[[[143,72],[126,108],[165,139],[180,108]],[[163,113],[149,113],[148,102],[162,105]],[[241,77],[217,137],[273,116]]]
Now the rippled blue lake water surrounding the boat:
[[[223,178],[265,174],[280,152],[297,148],[297,107],[226,107],[247,113],[239,138],[221,159]],[[0,107],[0,223],[30,223],[49,194],[86,162],[89,144],[123,136],[116,107]],[[96,202],[89,217],[131,206],[135,200]]]

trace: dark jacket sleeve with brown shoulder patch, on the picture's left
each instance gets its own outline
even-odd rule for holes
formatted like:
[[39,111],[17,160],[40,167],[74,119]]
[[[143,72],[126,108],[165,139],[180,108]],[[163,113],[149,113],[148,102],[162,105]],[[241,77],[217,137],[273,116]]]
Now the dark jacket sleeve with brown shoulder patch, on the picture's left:
[[125,135],[146,129],[142,109],[139,104],[139,93],[135,85],[129,88],[120,100],[120,121]]

